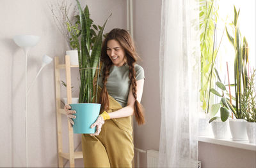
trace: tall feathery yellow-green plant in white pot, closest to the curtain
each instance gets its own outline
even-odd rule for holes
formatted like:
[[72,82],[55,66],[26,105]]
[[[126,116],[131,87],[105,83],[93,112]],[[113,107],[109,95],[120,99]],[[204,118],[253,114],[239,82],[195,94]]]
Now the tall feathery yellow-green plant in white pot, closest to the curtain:
[[[212,104],[209,90],[214,80],[210,81],[212,77],[212,69],[216,57],[212,57],[214,49],[214,22],[217,20],[217,10],[214,7],[214,0],[200,1],[200,52],[201,52],[201,66],[200,66],[200,101],[202,102],[202,110],[198,121],[198,134],[200,136],[209,136],[211,133],[211,126],[208,123],[209,110],[207,104]],[[214,76],[213,76],[214,77]]]

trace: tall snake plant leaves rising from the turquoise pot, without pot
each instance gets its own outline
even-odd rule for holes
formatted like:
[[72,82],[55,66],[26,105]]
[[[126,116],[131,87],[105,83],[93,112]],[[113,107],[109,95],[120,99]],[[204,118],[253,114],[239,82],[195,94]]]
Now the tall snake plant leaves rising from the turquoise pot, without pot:
[[[92,103],[94,100],[97,100],[98,90],[93,90],[93,77],[95,76],[96,70],[99,69],[103,31],[110,16],[107,18],[104,25],[102,25],[102,29],[100,29],[97,36],[95,36],[96,38],[93,43],[92,53],[90,54],[92,38],[90,36],[91,21],[89,9],[88,6],[86,6],[83,11],[79,1],[76,1],[81,24],[81,53],[78,50],[79,74],[81,80],[79,103]],[[97,78],[99,78],[99,73]],[[96,86],[98,86],[98,83],[96,83]]]

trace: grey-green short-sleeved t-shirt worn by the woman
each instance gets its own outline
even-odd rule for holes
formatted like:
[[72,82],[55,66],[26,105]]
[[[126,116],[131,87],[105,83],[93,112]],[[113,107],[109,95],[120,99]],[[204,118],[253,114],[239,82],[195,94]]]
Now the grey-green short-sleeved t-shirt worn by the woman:
[[[103,69],[104,65],[102,66]],[[135,64],[136,80],[145,79],[143,67]],[[102,70],[99,74],[99,86],[102,88]],[[111,95],[122,107],[127,105],[130,79],[129,79],[129,66],[112,66],[109,70],[109,77],[107,82],[108,94]]]

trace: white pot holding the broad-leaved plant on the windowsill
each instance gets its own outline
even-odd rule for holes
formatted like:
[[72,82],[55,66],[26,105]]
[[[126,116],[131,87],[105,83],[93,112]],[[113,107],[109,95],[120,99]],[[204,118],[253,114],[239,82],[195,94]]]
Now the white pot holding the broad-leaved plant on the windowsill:
[[220,118],[211,122],[212,132],[216,139],[228,139],[230,133],[228,132],[228,121],[222,122]]

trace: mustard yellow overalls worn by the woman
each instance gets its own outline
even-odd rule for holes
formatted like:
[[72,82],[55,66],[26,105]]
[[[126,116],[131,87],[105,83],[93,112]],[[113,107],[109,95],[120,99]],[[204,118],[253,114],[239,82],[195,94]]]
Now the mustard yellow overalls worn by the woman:
[[[98,98],[100,92],[101,88],[98,87]],[[122,108],[111,95],[108,97],[108,113]],[[106,120],[99,136],[83,134],[82,148],[84,167],[132,167],[134,146],[131,116]]]

